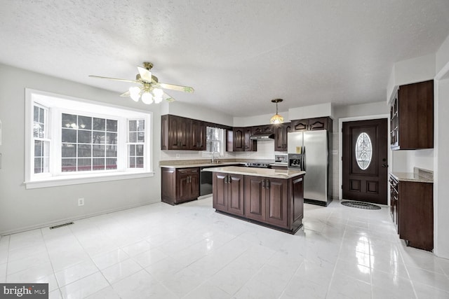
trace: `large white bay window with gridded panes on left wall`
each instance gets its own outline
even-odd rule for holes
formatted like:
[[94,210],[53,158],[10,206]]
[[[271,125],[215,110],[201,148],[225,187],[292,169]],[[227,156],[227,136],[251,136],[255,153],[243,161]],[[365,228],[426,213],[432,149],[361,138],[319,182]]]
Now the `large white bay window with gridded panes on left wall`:
[[28,89],[26,99],[27,188],[152,175],[151,113]]

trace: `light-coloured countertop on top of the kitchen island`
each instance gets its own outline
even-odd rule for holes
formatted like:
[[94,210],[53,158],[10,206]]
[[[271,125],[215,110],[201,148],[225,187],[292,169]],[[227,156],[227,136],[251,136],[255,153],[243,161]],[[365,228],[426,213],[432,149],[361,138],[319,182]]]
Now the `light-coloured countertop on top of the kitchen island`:
[[239,167],[239,166],[204,168],[203,171],[223,172],[225,174],[243,174],[247,176],[264,176],[276,179],[291,179],[295,176],[300,176],[306,173],[297,170],[253,168],[253,167]]

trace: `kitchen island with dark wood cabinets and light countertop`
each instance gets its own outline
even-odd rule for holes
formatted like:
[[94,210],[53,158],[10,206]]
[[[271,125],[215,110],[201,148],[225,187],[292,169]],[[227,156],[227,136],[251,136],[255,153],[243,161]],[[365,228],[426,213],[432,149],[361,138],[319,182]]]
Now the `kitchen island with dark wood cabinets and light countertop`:
[[248,167],[214,167],[217,212],[294,234],[302,226],[305,172]]

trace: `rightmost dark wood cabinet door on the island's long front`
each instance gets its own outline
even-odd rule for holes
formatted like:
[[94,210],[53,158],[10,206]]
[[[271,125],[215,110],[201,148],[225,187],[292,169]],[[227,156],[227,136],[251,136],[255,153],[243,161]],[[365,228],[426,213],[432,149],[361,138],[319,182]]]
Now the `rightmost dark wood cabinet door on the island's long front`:
[[287,181],[285,179],[265,179],[265,191],[267,193],[265,222],[283,228],[288,228]]

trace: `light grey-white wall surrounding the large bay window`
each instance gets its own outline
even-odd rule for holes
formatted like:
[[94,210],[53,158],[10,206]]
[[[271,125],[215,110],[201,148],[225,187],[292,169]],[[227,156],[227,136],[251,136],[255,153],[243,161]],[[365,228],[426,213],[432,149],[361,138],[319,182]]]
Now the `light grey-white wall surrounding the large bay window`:
[[[153,160],[159,161],[159,106],[124,101],[109,92],[60,78],[0,64],[0,119],[2,167],[0,169],[0,234],[27,230],[67,220],[102,214],[161,200],[160,172],[154,177],[101,183],[25,189],[25,88],[44,90],[115,105],[152,109]],[[76,200],[85,198],[78,207]]]

